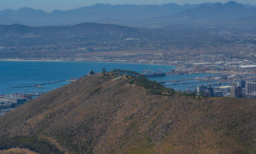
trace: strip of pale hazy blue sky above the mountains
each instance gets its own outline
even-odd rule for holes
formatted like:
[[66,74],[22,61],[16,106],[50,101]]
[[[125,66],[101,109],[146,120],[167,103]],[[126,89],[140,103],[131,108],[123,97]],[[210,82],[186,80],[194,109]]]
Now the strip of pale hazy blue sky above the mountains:
[[[204,2],[221,2],[226,3],[229,0],[0,0],[0,10],[4,9],[19,9],[22,7],[30,7],[34,9],[42,9],[46,12],[52,10],[69,10],[83,6],[91,6],[96,3],[109,4],[167,4],[177,3],[183,5],[184,3],[198,4]],[[238,3],[246,3],[256,5],[256,0],[237,0]]]

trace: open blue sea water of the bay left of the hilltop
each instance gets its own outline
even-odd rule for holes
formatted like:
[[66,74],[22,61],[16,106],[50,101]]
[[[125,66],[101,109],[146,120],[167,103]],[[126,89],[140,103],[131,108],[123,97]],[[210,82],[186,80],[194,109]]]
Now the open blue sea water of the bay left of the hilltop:
[[30,86],[53,81],[70,80],[86,75],[90,70],[101,72],[113,69],[125,69],[142,72],[143,69],[164,70],[174,69],[176,66],[145,65],[132,63],[97,63],[97,62],[38,62],[38,61],[0,61],[0,95],[13,93],[48,92],[68,84],[44,85],[44,88],[26,87],[10,88],[17,86]]

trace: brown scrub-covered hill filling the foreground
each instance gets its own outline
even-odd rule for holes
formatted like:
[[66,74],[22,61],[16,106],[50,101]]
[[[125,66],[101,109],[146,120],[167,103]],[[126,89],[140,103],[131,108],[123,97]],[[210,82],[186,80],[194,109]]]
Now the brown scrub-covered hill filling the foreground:
[[86,76],[0,117],[0,149],[255,152],[255,99],[197,98],[144,78],[117,75]]

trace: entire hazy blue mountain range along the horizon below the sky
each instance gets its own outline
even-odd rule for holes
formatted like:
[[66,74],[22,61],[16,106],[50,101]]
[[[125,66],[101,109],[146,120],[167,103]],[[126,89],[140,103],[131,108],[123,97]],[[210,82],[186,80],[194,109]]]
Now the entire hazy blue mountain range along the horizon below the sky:
[[[173,23],[205,23],[233,20],[256,15],[256,6],[230,1],[183,6],[174,3],[164,5],[110,5],[96,4],[90,7],[46,13],[42,10],[21,8],[16,11],[0,11],[0,24],[25,24],[31,26],[73,25],[83,22],[113,23],[123,25],[151,25]],[[218,23],[217,22],[217,23]]]

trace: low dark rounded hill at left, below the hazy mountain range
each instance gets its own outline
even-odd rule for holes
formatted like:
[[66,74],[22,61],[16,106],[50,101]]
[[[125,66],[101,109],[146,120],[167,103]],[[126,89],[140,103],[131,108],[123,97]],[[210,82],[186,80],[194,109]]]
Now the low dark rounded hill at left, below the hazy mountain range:
[[12,24],[12,25],[0,25],[0,35],[3,34],[49,34],[49,33],[61,33],[61,32],[71,32],[71,33],[90,33],[90,34],[102,34],[102,33],[124,33],[132,32],[136,29],[125,27],[116,24],[102,24],[102,23],[91,23],[85,22],[76,25],[69,26],[48,26],[48,27],[28,27],[22,24]]

